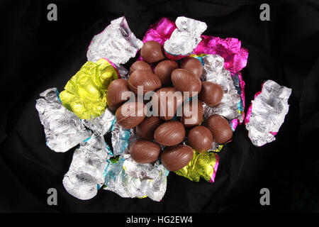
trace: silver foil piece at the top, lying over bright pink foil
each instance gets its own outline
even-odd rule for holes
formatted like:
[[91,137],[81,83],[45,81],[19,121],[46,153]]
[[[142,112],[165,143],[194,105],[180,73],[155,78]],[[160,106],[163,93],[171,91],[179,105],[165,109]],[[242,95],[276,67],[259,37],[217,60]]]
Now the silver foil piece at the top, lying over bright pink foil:
[[201,42],[201,34],[206,30],[206,23],[179,16],[169,40],[164,43],[164,50],[172,55],[189,55]]

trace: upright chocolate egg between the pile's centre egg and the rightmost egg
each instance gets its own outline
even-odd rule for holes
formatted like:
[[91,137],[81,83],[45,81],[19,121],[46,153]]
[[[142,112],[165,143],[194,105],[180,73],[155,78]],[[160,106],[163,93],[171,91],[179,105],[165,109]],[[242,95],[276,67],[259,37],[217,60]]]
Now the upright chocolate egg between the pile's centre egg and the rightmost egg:
[[197,106],[193,103],[193,101],[190,101],[183,105],[181,123],[185,127],[198,126],[203,120],[203,103],[199,100],[197,100]]

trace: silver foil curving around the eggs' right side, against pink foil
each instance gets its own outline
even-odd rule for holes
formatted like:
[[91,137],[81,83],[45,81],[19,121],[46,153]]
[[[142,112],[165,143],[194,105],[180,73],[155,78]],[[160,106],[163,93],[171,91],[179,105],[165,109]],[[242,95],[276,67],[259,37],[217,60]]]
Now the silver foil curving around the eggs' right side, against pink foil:
[[228,70],[225,70],[224,59],[219,55],[206,55],[203,57],[204,72],[202,79],[216,84],[223,88],[223,99],[218,106],[208,106],[203,104],[204,117],[208,118],[212,114],[219,114],[232,121],[238,118],[242,121],[243,117],[238,109],[240,95],[237,93],[233,79]]

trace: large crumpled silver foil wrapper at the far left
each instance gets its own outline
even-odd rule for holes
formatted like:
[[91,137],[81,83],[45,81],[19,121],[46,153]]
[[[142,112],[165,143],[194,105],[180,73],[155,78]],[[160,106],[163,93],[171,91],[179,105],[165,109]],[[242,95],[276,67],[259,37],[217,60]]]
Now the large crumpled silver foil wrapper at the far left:
[[92,135],[86,131],[81,120],[62,105],[56,88],[47,89],[40,96],[43,98],[37,100],[35,108],[50,149],[66,152]]

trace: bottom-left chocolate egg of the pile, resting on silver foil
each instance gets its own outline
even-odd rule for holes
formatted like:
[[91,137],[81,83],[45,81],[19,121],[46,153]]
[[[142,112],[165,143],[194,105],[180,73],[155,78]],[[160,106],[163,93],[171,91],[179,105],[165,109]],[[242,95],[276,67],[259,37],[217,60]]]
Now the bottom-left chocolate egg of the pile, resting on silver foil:
[[148,140],[136,140],[130,146],[130,157],[135,162],[146,164],[158,159],[161,148],[158,144]]

